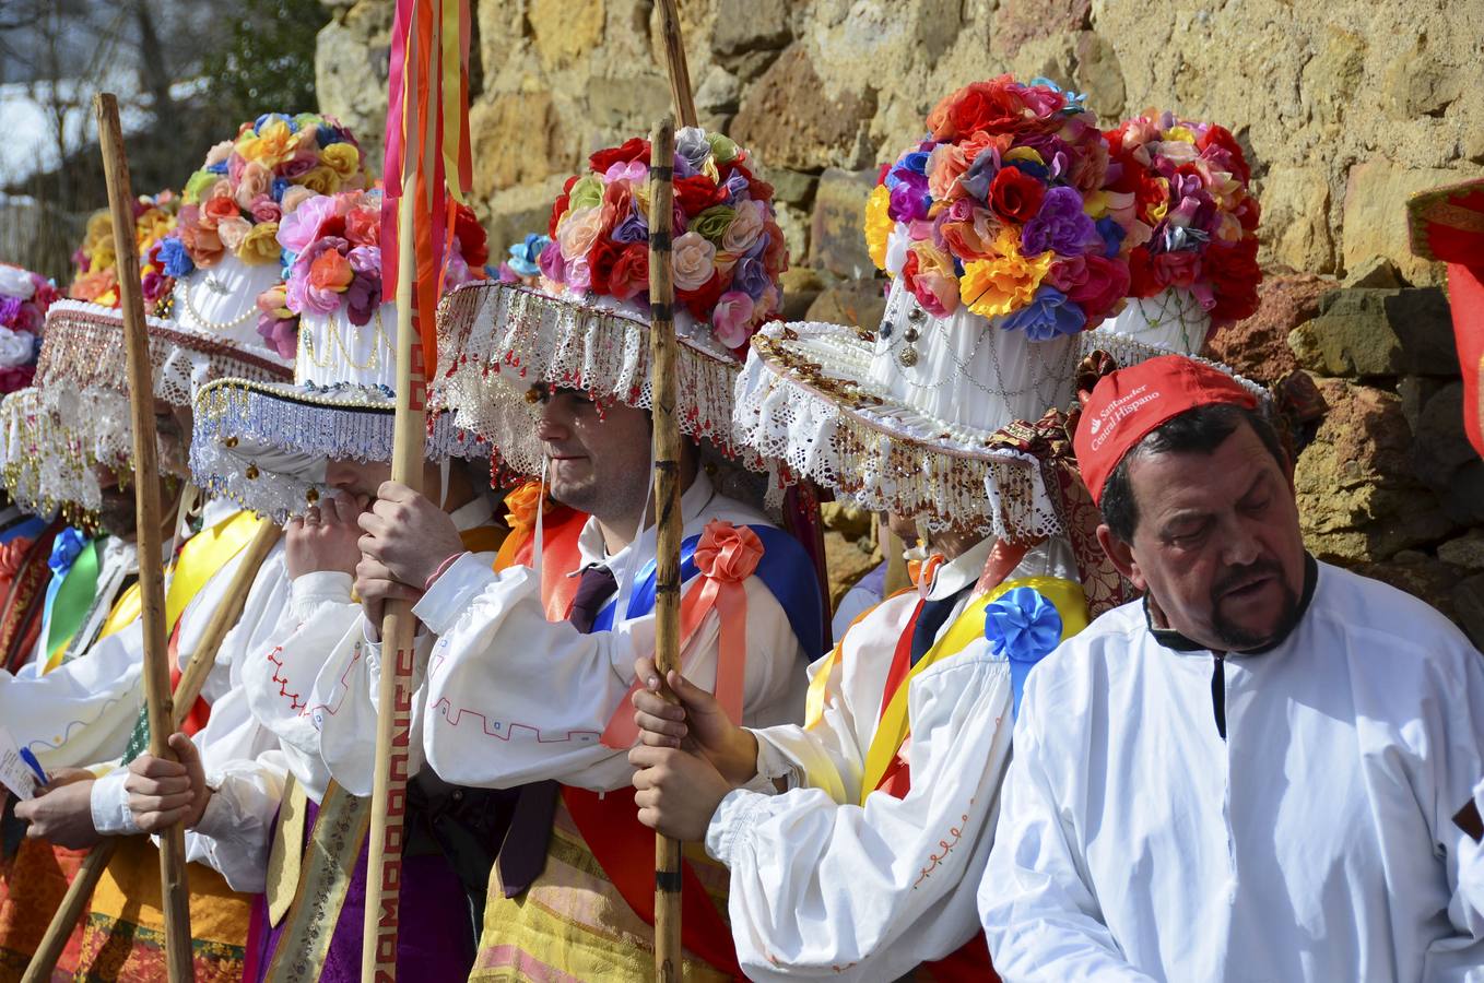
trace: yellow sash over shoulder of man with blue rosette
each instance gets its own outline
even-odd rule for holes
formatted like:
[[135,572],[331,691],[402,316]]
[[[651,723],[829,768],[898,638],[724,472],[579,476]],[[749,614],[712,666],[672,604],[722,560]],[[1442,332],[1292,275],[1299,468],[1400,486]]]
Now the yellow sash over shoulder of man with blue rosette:
[[911,688],[913,681],[930,666],[957,655],[975,639],[984,638],[984,609],[994,603],[1000,595],[1017,587],[1033,587],[1057,606],[1057,614],[1061,615],[1063,642],[1088,627],[1088,600],[1082,593],[1082,586],[1061,577],[1006,580],[994,590],[971,600],[969,606],[954,618],[953,626],[944,632],[942,638],[928,649],[922,661],[913,666],[911,672],[907,673],[907,679],[896,688],[890,703],[886,704],[881,721],[876,727],[876,737],[871,738],[871,747],[865,752],[865,780],[861,783],[862,805],[865,805],[865,796],[871,795],[876,786],[881,783],[881,775],[892,765],[892,759],[902,749],[902,743],[911,729],[911,722],[907,719],[907,691]]

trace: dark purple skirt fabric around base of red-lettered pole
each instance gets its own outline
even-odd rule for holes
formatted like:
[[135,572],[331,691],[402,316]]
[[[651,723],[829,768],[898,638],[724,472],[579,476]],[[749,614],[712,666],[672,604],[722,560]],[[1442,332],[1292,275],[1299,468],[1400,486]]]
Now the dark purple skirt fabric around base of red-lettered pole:
[[[304,842],[315,829],[319,805],[309,802]],[[411,818],[411,817],[410,817]],[[442,854],[402,858],[401,927],[396,934],[396,974],[402,980],[462,983],[473,968],[475,937],[469,903],[459,875]],[[367,848],[361,848],[356,873],[340,909],[340,922],[329,941],[329,956],[321,983],[359,983],[361,939],[367,900]],[[278,928],[269,927],[266,894],[252,900],[243,979],[263,983],[288,918]]]

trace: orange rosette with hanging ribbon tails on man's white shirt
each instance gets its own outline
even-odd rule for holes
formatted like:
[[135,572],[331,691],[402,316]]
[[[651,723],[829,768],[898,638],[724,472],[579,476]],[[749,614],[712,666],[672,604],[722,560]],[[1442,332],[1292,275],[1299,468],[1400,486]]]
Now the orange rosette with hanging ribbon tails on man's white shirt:
[[[742,685],[746,676],[746,587],[743,581],[763,559],[763,541],[746,526],[735,526],[724,519],[706,523],[696,544],[697,583],[680,602],[680,646],[686,648],[700,623],[712,611],[721,620],[717,641],[715,697],[727,719],[742,724]],[[634,694],[643,686],[635,679],[629,692],[603,731],[603,744],[613,749],[631,747],[638,740],[634,724]]]

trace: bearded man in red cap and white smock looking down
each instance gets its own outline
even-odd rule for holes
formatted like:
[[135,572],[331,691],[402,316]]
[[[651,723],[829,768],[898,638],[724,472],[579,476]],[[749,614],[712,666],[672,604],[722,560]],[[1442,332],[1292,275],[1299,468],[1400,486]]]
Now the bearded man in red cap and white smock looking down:
[[1459,804],[1484,660],[1303,549],[1258,400],[1150,359],[1074,437],[1144,599],[1030,673],[979,916],[1008,982],[1484,980]]

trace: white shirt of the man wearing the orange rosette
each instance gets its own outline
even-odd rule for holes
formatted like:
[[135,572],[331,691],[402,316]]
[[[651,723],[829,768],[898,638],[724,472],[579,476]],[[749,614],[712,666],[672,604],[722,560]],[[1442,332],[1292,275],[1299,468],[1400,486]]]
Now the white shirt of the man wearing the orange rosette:
[[[788,617],[755,577],[746,590],[743,724],[798,719],[803,664]],[[598,792],[628,784],[626,749],[600,743],[628,697],[634,660],[654,649],[653,615],[583,635],[548,621],[528,568],[499,574],[463,556],[414,614],[439,636],[427,667],[427,761],[447,781],[510,787],[555,778]],[[681,670],[715,685],[720,620],[712,611],[681,652]]]

